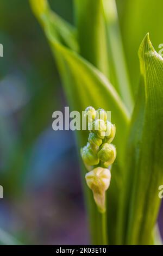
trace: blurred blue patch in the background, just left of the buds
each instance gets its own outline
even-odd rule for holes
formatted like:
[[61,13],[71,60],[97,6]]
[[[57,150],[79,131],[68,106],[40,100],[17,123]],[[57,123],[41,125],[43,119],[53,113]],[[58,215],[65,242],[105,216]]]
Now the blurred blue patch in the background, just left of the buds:
[[77,164],[77,156],[72,158],[75,152],[71,131],[53,131],[52,127],[43,131],[34,145],[28,167],[28,174],[32,176],[34,184],[42,186],[52,172],[58,176],[59,167],[65,166],[70,158]]

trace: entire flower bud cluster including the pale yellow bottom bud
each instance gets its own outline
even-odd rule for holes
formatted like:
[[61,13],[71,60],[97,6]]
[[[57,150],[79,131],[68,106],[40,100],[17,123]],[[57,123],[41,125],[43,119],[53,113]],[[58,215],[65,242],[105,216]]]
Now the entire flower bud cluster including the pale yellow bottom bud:
[[[108,167],[116,159],[116,148],[111,142],[116,127],[107,120],[106,111],[93,107],[85,109],[89,125],[89,138],[81,155],[89,172],[85,175],[86,183],[93,192],[93,197],[100,212],[105,212],[105,191],[110,185],[111,173]],[[91,170],[90,170],[91,168]]]

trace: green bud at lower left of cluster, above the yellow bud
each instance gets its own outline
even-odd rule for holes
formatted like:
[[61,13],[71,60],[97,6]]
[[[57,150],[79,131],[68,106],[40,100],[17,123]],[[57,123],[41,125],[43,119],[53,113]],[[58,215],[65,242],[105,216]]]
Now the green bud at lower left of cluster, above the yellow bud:
[[81,150],[81,155],[84,163],[87,166],[95,166],[99,163],[97,154],[95,154],[91,149],[90,143],[87,143],[87,145]]

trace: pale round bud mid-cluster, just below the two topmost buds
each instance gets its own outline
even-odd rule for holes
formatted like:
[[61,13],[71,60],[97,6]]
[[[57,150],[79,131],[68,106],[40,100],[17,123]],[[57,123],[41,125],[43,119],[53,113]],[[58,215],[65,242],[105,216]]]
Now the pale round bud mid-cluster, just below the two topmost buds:
[[92,130],[95,132],[99,138],[104,139],[106,131],[106,123],[102,119],[96,119],[92,123]]

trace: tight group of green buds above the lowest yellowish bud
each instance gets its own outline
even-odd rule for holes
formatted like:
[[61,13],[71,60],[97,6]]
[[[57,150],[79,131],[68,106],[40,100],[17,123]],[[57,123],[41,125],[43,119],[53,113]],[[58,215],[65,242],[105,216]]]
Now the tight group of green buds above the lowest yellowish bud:
[[107,120],[104,109],[97,111],[93,107],[86,108],[87,120],[90,130],[88,142],[81,150],[84,163],[87,166],[108,168],[116,159],[116,148],[110,144],[116,133],[116,127]]

